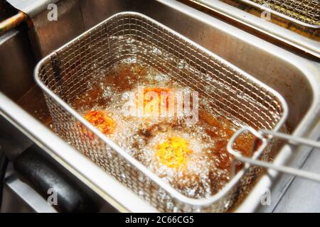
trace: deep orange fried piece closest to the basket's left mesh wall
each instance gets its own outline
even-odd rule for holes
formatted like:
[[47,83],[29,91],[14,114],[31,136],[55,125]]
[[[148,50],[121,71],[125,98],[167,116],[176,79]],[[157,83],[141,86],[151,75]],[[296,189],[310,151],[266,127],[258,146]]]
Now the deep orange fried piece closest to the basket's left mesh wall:
[[114,133],[114,120],[105,111],[89,111],[83,118],[106,135]]

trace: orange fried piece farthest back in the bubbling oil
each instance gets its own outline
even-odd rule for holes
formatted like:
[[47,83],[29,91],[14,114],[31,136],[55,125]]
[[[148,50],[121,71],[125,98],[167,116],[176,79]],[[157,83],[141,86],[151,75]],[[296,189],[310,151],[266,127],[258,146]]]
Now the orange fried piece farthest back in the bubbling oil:
[[[172,95],[171,89],[152,87],[144,88],[143,91],[143,108],[144,114],[161,114],[162,109],[169,108],[170,96]],[[139,105],[140,99],[137,99]],[[156,113],[158,111],[158,113]]]

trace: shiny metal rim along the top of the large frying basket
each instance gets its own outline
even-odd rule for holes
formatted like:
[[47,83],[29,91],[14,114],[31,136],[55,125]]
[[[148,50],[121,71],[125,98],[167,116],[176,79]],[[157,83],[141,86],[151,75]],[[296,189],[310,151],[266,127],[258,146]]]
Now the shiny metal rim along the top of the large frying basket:
[[[185,204],[189,204],[191,206],[210,206],[211,204],[215,203],[216,201],[219,201],[220,199],[222,199],[223,196],[225,196],[225,194],[228,194],[230,189],[232,189],[240,181],[241,177],[245,174],[245,171],[247,170],[247,167],[242,168],[242,170],[240,170],[233,177],[233,179],[230,180],[230,182],[225,184],[223,189],[221,189],[217,194],[214,194],[213,196],[210,196],[208,198],[201,198],[201,199],[189,198],[188,196],[185,196],[185,195],[181,194],[181,192],[178,192],[176,189],[171,187],[171,185],[169,185],[166,182],[164,182],[160,177],[158,177],[156,174],[154,174],[154,172],[151,172],[151,170],[149,170],[146,166],[144,166],[138,160],[134,159],[134,157],[129,155],[122,148],[119,148],[118,145],[116,145],[112,140],[107,138],[107,136],[105,136],[103,133],[101,133],[97,128],[95,128],[95,126],[92,126],[92,124],[90,124],[89,122],[85,121],[85,119],[82,118],[82,116],[80,116],[80,114],[78,114],[77,111],[75,111],[73,108],[71,108],[65,101],[60,99],[60,97],[58,95],[56,95],[50,89],[48,89],[48,87],[46,87],[46,85],[43,84],[43,82],[41,81],[41,79],[39,77],[40,68],[43,65],[43,62],[46,62],[46,60],[48,60],[52,55],[55,55],[56,52],[58,52],[60,50],[63,50],[68,45],[70,45],[71,43],[73,43],[76,40],[78,40],[80,37],[86,35],[87,33],[90,33],[91,31],[94,31],[95,28],[98,28],[99,26],[101,26],[102,24],[106,23],[110,19],[115,18],[117,16],[126,15],[126,14],[134,15],[134,16],[140,16],[141,18],[144,18],[146,20],[151,21],[152,23],[155,23],[157,26],[161,26],[161,28],[166,29],[170,33],[174,33],[174,35],[178,35],[178,37],[182,38],[183,40],[186,40],[188,43],[191,43],[191,45],[194,45],[198,50],[206,52],[208,55],[210,55],[212,57],[215,57],[215,59],[217,59],[218,61],[222,62],[225,65],[228,65],[229,67],[230,66],[233,67],[233,69],[235,69],[238,72],[240,72],[241,74],[245,75],[245,77],[250,79],[252,82],[257,83],[257,84],[259,84],[260,87],[263,87],[263,88],[269,90],[270,92],[272,92],[272,94],[274,94],[274,96],[277,96],[277,99],[279,99],[279,101],[281,102],[282,109],[283,109],[283,114],[282,114],[281,118],[279,119],[279,121],[277,122],[276,126],[274,127],[273,131],[278,131],[279,128],[281,128],[281,126],[283,125],[284,121],[286,121],[286,119],[287,119],[287,115],[288,115],[287,102],[284,100],[284,98],[283,98],[283,96],[281,94],[279,94],[277,91],[275,91],[271,87],[267,86],[267,84],[264,84],[264,83],[260,82],[258,79],[255,79],[255,77],[252,77],[250,74],[247,74],[247,72],[244,72],[244,71],[240,70],[238,67],[236,67],[235,65],[231,64],[230,62],[224,60],[222,57],[219,57],[218,55],[215,55],[213,52],[210,52],[206,48],[203,48],[201,45],[198,45],[197,43],[194,43],[192,40],[186,38],[184,35],[181,35],[181,34],[177,33],[176,31],[173,31],[171,28],[168,28],[167,26],[164,26],[162,23],[159,23],[158,21],[155,21],[154,19],[150,18],[149,16],[146,16],[146,15],[144,15],[142,13],[138,13],[138,12],[135,12],[135,11],[123,11],[123,12],[120,12],[120,13],[115,13],[114,15],[106,18],[104,21],[98,23],[96,26],[93,26],[89,30],[87,30],[84,33],[82,33],[82,34],[78,35],[77,37],[73,38],[73,40],[70,40],[68,43],[65,43],[60,48],[58,48],[56,50],[53,50],[53,52],[51,52],[46,57],[43,57],[43,59],[38,62],[38,64],[36,65],[36,68],[34,70],[34,78],[35,78],[36,83],[38,84],[39,87],[41,87],[43,92],[45,92],[51,98],[53,98],[58,104],[60,104],[60,106],[63,107],[63,109],[68,111],[68,113],[70,113],[78,121],[80,121],[87,128],[89,128],[90,131],[95,133],[103,142],[105,142],[113,150],[115,150],[117,153],[119,153],[119,155],[121,155],[131,165],[134,165],[134,167],[136,167],[140,172],[142,172],[144,175],[146,175],[146,177],[151,178],[151,180],[153,182],[155,182],[156,184],[158,184],[159,187],[161,187],[161,189],[164,189],[171,196],[174,196],[175,199],[178,199],[178,201],[181,201],[181,202],[183,202]],[[106,174],[108,174],[108,172],[106,172]]]

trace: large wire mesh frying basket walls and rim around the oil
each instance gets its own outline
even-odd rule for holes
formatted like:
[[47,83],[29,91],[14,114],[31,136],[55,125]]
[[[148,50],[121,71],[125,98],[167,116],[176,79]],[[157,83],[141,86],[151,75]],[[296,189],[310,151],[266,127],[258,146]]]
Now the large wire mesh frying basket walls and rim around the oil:
[[[161,53],[161,54],[159,54]],[[88,82],[128,57],[161,69],[210,99],[210,107],[245,126],[277,131],[287,116],[282,96],[212,52],[140,13],[107,18],[38,63],[36,82],[43,89],[55,133],[129,187],[159,211],[227,211],[257,177],[245,167],[213,196],[191,199],[166,184],[142,163],[85,121],[72,102],[90,92]],[[184,67],[181,67],[181,64]],[[83,133],[83,128],[92,135]],[[261,156],[269,158],[269,152]]]

